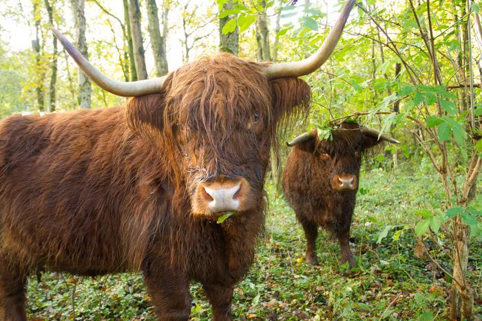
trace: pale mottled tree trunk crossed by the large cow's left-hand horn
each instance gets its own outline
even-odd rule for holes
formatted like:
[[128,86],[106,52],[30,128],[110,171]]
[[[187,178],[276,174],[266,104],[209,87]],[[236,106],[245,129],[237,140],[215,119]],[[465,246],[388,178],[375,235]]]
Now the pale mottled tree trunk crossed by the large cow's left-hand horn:
[[[87,40],[85,39],[85,0],[70,0],[72,6],[72,15],[75,22],[75,43],[78,51],[88,59],[89,53],[87,52]],[[81,108],[91,108],[91,96],[92,87],[90,80],[85,76],[80,68],[77,70],[77,100],[78,106]]]

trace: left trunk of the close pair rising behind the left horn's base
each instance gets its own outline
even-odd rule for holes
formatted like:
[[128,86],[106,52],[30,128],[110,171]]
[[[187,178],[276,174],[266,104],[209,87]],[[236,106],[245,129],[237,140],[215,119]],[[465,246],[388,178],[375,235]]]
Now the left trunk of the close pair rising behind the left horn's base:
[[129,21],[131,25],[132,46],[134,48],[134,63],[136,65],[137,79],[147,79],[143,33],[140,29],[140,9],[138,0],[129,0]]

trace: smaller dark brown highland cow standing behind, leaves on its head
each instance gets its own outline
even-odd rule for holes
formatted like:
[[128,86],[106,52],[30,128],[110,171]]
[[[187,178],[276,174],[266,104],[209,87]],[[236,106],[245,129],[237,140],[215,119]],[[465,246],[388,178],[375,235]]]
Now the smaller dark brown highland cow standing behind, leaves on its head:
[[342,248],[341,264],[355,260],[350,251],[350,225],[355,208],[362,154],[387,135],[358,124],[343,122],[331,131],[333,140],[319,140],[316,130],[288,143],[293,146],[282,177],[284,195],[306,236],[306,262],[317,265],[318,226],[336,236]]

